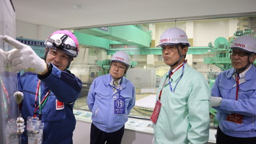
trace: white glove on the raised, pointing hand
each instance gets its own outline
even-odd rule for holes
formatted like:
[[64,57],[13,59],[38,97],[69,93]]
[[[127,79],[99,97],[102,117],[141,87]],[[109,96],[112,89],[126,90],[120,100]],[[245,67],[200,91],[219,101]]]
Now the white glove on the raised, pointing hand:
[[7,53],[7,59],[12,64],[14,71],[27,70],[41,74],[46,71],[45,60],[40,58],[30,46],[23,44],[12,37],[4,35],[4,40],[14,49]]

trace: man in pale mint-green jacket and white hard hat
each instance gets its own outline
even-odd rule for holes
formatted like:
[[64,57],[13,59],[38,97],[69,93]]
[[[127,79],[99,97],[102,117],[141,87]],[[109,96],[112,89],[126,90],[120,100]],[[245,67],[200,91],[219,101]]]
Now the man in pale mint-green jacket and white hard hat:
[[177,27],[169,28],[159,44],[170,70],[162,77],[151,115],[154,143],[207,143],[210,87],[203,75],[187,65],[187,35]]

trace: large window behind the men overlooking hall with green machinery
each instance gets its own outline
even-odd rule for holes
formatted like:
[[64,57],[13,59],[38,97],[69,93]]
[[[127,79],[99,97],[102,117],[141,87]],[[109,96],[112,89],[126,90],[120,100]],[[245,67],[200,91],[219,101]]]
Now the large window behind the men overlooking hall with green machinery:
[[[169,27],[185,30],[191,45],[187,63],[202,73],[212,86],[219,72],[231,68],[230,42],[240,35],[256,36],[255,24],[256,17],[227,17],[74,30],[81,49],[70,69],[83,82],[75,108],[88,109],[87,93],[92,81],[108,73],[109,60],[116,50],[125,50],[132,60],[125,76],[136,87],[136,106],[130,116],[149,119],[160,78],[169,71],[162,60],[162,50],[156,48],[164,30]],[[211,126],[216,126],[215,113],[210,109]]]

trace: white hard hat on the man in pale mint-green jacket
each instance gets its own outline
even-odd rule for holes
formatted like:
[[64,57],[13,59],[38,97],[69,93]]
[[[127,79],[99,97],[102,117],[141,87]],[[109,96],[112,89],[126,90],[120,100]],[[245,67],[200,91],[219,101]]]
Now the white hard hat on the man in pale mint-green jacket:
[[160,42],[157,47],[162,45],[175,45],[175,44],[187,44],[190,46],[190,43],[187,40],[187,34],[183,30],[177,27],[172,27],[167,29],[160,37]]

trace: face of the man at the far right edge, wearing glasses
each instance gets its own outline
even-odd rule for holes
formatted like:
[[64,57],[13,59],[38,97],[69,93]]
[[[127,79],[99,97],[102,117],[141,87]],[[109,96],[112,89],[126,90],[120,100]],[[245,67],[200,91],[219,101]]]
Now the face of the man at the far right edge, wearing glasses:
[[236,69],[244,68],[249,62],[248,57],[249,53],[233,48],[230,56],[231,64]]

